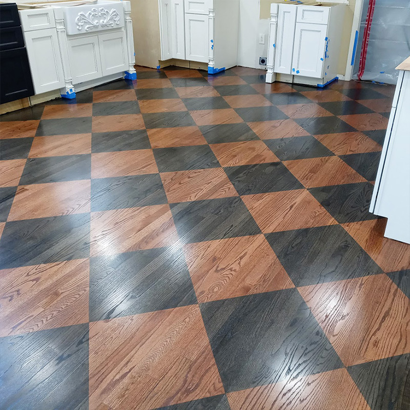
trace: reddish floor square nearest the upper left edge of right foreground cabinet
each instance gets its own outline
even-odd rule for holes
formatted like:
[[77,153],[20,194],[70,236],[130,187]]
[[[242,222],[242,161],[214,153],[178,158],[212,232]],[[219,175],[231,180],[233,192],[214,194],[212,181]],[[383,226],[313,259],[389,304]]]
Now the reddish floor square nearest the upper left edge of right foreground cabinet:
[[362,152],[381,151],[381,145],[363,133],[342,132],[339,134],[314,135],[324,146],[336,155],[357,154]]

